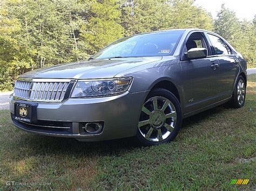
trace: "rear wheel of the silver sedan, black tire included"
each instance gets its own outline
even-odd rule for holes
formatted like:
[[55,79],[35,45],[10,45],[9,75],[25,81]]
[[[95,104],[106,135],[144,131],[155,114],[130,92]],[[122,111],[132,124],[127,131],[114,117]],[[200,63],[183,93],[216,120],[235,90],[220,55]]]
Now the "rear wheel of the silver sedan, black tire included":
[[235,82],[233,95],[231,98],[231,107],[237,109],[241,108],[245,104],[246,97],[246,81],[244,77],[239,76]]

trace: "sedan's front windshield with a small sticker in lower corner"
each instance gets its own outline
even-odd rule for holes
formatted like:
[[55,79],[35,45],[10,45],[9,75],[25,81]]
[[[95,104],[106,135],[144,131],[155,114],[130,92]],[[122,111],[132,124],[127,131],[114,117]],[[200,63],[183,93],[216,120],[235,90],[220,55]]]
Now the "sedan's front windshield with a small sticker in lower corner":
[[172,55],[184,30],[139,34],[115,41],[93,59]]

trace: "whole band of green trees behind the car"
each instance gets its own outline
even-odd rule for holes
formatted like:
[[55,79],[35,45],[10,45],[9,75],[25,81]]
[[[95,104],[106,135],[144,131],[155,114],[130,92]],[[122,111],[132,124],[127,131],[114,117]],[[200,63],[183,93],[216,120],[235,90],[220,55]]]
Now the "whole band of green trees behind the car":
[[239,22],[223,5],[214,21],[193,0],[2,0],[0,90],[29,70],[89,58],[132,34],[178,28],[214,30],[249,66],[256,63],[256,22]]

